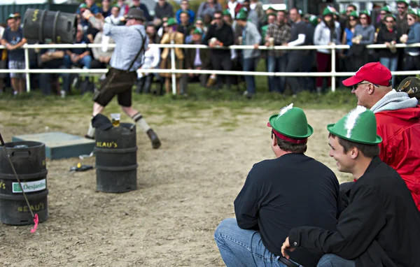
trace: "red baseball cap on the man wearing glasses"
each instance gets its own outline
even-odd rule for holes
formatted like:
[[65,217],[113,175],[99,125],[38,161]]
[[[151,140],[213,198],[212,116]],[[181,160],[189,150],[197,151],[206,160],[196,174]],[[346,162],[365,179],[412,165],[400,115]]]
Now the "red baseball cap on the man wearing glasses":
[[390,86],[391,78],[391,71],[386,66],[379,62],[371,62],[359,68],[352,77],[343,80],[343,85],[350,87],[366,80],[375,85]]

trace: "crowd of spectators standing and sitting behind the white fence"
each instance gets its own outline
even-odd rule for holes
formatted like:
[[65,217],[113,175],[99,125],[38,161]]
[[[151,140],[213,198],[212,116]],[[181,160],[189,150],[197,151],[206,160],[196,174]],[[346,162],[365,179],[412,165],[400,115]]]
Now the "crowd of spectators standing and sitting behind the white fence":
[[[396,1],[398,12],[393,14],[389,6],[374,6],[371,10],[357,10],[349,4],[339,12],[326,6],[319,15],[303,14],[299,8],[264,10],[258,0],[229,0],[222,6],[216,0],[206,0],[197,12],[191,10],[188,0],[181,0],[179,10],[167,0],[158,0],[154,12],[150,12],[141,0],[126,0],[111,3],[103,0],[98,6],[94,0],[85,0],[78,7],[78,27],[76,43],[101,44],[101,48],[48,49],[31,52],[30,68],[106,68],[113,54],[109,46],[113,40],[94,29],[81,14],[89,9],[95,16],[105,17],[105,21],[124,25],[125,14],[130,8],[143,10],[149,43],[204,44],[210,49],[176,49],[176,68],[197,70],[255,71],[260,61],[265,62],[268,72],[328,72],[331,70],[331,50],[260,50],[260,45],[328,45],[331,43],[350,45],[349,50],[337,50],[337,71],[357,71],[367,62],[380,61],[391,71],[418,70],[419,48],[396,49],[397,43],[420,43],[420,13],[408,0]],[[154,15],[151,15],[154,14]],[[0,28],[1,66],[8,60],[8,68],[25,68],[24,53],[20,46],[25,42],[19,14],[10,14],[7,26]],[[29,41],[28,41],[29,42]],[[385,44],[387,48],[372,50],[366,45]],[[219,49],[230,45],[252,45],[253,49]],[[150,46],[145,53],[141,69],[171,68],[168,49]],[[135,91],[138,93],[165,94],[169,92],[170,75],[140,72]],[[35,76],[35,75],[34,75]],[[71,86],[83,87],[83,92],[92,90],[89,77],[80,78],[62,74],[62,87],[57,85],[59,75],[36,75],[31,82],[40,87],[44,94],[65,96]],[[4,75],[0,76],[3,89]],[[25,75],[10,73],[14,94],[25,91]],[[77,82],[74,82],[77,81]],[[153,87],[155,82],[155,87]],[[252,75],[196,75],[193,73],[176,75],[179,94],[187,94],[190,82],[200,82],[202,87],[230,89],[246,86],[244,95],[251,98],[255,92],[255,78]],[[293,95],[307,90],[321,94],[330,87],[330,78],[297,78],[284,76],[267,77],[267,91],[282,94],[288,87]],[[396,87],[398,80],[392,80]],[[165,89],[164,89],[165,88]]]

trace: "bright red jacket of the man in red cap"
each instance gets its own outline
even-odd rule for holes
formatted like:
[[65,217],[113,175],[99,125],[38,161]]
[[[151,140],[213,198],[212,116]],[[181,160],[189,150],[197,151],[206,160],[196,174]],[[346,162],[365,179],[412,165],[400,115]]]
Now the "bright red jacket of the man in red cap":
[[420,106],[375,113],[379,157],[397,171],[420,210]]

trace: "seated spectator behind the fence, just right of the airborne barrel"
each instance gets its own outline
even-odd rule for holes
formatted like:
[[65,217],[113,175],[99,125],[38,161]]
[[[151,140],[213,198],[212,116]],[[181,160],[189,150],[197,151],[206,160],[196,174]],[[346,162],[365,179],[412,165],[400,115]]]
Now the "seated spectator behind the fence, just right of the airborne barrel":
[[[82,25],[78,24],[75,44],[80,43],[90,42],[84,36]],[[71,48],[66,50],[66,55],[64,56],[64,65],[66,68],[71,68],[71,66],[90,68],[90,62],[92,62],[92,57],[90,56],[89,48]]]

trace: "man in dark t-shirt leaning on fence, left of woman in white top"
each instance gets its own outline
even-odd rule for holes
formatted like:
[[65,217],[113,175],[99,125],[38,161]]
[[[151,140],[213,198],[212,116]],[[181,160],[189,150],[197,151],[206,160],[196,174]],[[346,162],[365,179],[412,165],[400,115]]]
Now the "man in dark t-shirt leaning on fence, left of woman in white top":
[[[297,8],[292,8],[289,11],[290,20],[292,21],[291,25],[291,36],[290,42],[284,45],[286,46],[297,46],[304,45],[307,34],[307,27],[304,21],[302,20],[302,10]],[[302,71],[302,62],[304,61],[304,50],[290,50],[288,54],[288,64],[286,67],[286,72],[300,72]],[[298,92],[301,91],[302,86],[297,77],[288,77],[286,80],[290,85],[290,89],[295,96]]]

